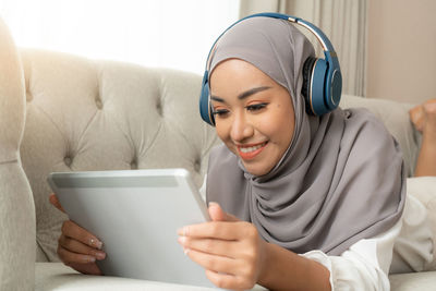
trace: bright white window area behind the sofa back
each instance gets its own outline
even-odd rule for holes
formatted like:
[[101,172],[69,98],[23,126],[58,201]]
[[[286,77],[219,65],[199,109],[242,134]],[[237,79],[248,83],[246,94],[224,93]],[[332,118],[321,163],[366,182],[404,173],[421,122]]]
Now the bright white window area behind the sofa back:
[[203,73],[239,1],[3,0],[0,13],[19,47]]

